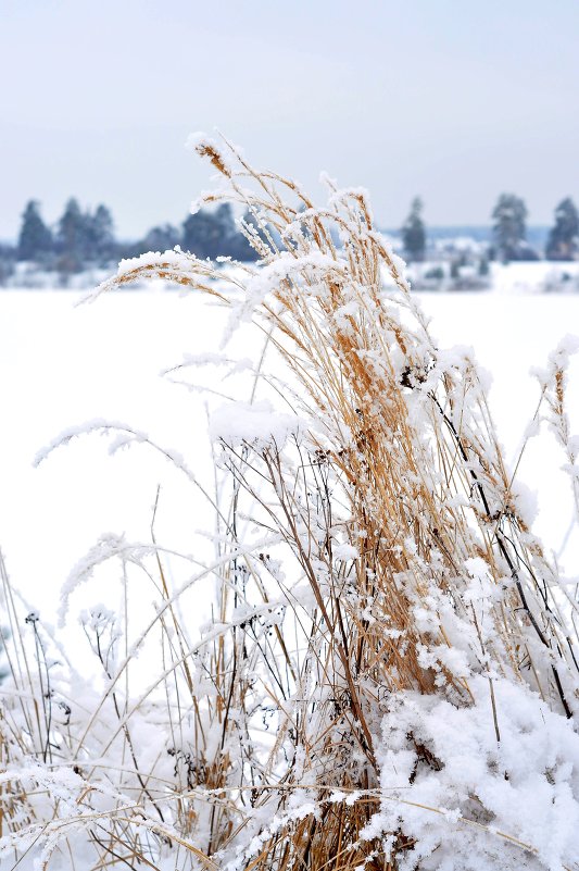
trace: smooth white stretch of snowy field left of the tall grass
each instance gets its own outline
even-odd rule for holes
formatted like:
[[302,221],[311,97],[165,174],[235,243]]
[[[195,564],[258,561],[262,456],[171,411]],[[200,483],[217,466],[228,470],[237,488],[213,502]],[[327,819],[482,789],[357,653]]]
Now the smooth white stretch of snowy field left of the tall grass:
[[186,543],[198,509],[185,475],[179,482],[166,457],[142,443],[110,457],[110,439],[75,438],[34,469],[59,434],[80,432],[86,421],[130,424],[192,459],[201,483],[212,486],[204,402],[159,372],[184,350],[214,348],[223,315],[174,294],[118,294],[76,307],[79,299],[71,291],[0,294],[0,547],[13,581],[50,620],[58,589],[103,532],[150,542],[160,483],[160,537],[166,519],[168,537]]

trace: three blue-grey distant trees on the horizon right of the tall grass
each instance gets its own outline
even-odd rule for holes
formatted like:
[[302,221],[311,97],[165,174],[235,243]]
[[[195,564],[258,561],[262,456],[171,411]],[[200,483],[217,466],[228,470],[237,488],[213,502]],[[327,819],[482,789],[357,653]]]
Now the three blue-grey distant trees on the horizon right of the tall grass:
[[[491,260],[508,263],[511,260],[539,260],[539,253],[527,244],[527,207],[515,194],[501,194],[492,211]],[[410,262],[426,257],[427,232],[423,220],[423,201],[412,201],[400,235],[404,254]],[[576,260],[579,258],[579,212],[570,197],[555,209],[554,224],[545,246],[546,260]]]

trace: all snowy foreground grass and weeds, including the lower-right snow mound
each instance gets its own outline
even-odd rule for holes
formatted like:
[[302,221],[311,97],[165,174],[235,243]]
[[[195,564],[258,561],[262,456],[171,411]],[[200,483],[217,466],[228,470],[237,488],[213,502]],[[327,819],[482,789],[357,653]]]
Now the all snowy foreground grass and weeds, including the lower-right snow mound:
[[[579,868],[577,601],[530,528],[484,377],[437,346],[363,190],[326,179],[317,208],[225,141],[196,148],[223,179],[203,204],[243,207],[259,264],[177,249],[98,293],[167,279],[228,309],[226,339],[262,337],[251,400],[211,416],[213,556],[172,588],[154,534],[97,545],[66,596],[118,560],[127,590],[138,567],[156,598],[131,638],[128,592],[121,613],[85,615],[90,686],[3,573],[2,868]],[[569,350],[536,419],[575,487]],[[184,602],[206,578],[193,633]],[[146,648],[156,673],[137,692]]]

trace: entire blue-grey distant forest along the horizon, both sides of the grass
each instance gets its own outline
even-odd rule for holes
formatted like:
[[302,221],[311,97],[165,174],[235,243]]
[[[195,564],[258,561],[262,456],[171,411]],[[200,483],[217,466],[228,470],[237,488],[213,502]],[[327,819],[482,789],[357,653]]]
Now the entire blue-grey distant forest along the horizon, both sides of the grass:
[[[388,235],[394,237],[395,246],[407,262],[446,259],[456,277],[458,270],[470,262],[464,253],[464,246],[458,256],[449,232],[450,245],[446,248],[441,246],[440,228],[428,228],[423,213],[423,201],[415,197],[402,227]],[[487,264],[492,260],[507,263],[543,257],[553,261],[579,259],[579,212],[570,197],[558,203],[553,224],[542,238],[533,228],[527,227],[527,207],[520,197],[501,194],[491,214],[492,226],[487,232],[480,227],[458,226],[452,231],[455,239],[460,236],[471,239],[480,276],[487,274]],[[254,223],[249,213],[243,215],[243,220],[247,224]],[[22,214],[16,244],[0,244],[0,285],[7,284],[22,269],[58,273],[61,282],[66,284],[75,273],[111,269],[123,258],[147,251],[165,251],[177,245],[202,259],[230,257],[244,262],[256,259],[228,203],[190,214],[178,226],[154,226],[142,239],[127,242],[116,238],[113,215],[104,204],[95,210],[83,209],[73,197],[59,221],[50,226],[42,217],[40,203],[30,200]]]

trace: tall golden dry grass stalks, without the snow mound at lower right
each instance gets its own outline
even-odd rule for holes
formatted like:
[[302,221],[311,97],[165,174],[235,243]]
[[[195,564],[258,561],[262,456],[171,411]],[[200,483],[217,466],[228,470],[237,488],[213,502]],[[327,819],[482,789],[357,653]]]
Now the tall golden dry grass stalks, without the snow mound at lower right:
[[[251,213],[243,229],[262,264],[223,272],[165,252],[122,264],[100,291],[161,277],[229,307],[232,324],[252,320],[289,372],[284,398],[302,423],[285,444],[267,434],[223,438],[230,501],[207,570],[221,598],[201,640],[179,617],[180,594],[168,589],[153,539],[162,607],[144,635],[161,632],[161,676],[130,701],[121,692],[127,651],[89,724],[59,736],[87,818],[68,819],[90,833],[95,868],[412,868],[415,839],[402,826],[373,829],[389,800],[382,717],[408,693],[468,708],[482,676],[498,745],[496,681],[528,685],[570,718],[577,606],[521,515],[476,365],[431,339],[364,192],[328,182],[328,206],[317,209],[229,145],[204,140],[198,151],[227,183],[207,199]],[[276,378],[268,384],[280,391]],[[551,405],[558,420],[562,385],[558,377],[561,411]],[[242,543],[248,517],[263,533],[259,546]],[[276,555],[291,555],[289,577]],[[147,718],[160,720],[160,686],[168,773],[166,759],[140,771],[131,737]],[[28,721],[33,708],[22,705]],[[116,726],[95,737],[105,708]],[[26,741],[38,754],[50,739],[37,708],[36,717]],[[275,734],[260,738],[266,717]],[[406,738],[411,784],[423,769],[440,770],[420,735]],[[106,780],[111,754],[125,771],[116,781]],[[533,853],[530,842],[491,832],[482,802],[469,801],[467,828]],[[13,830],[40,834],[34,819],[5,813]],[[61,824],[55,810],[51,825]]]

